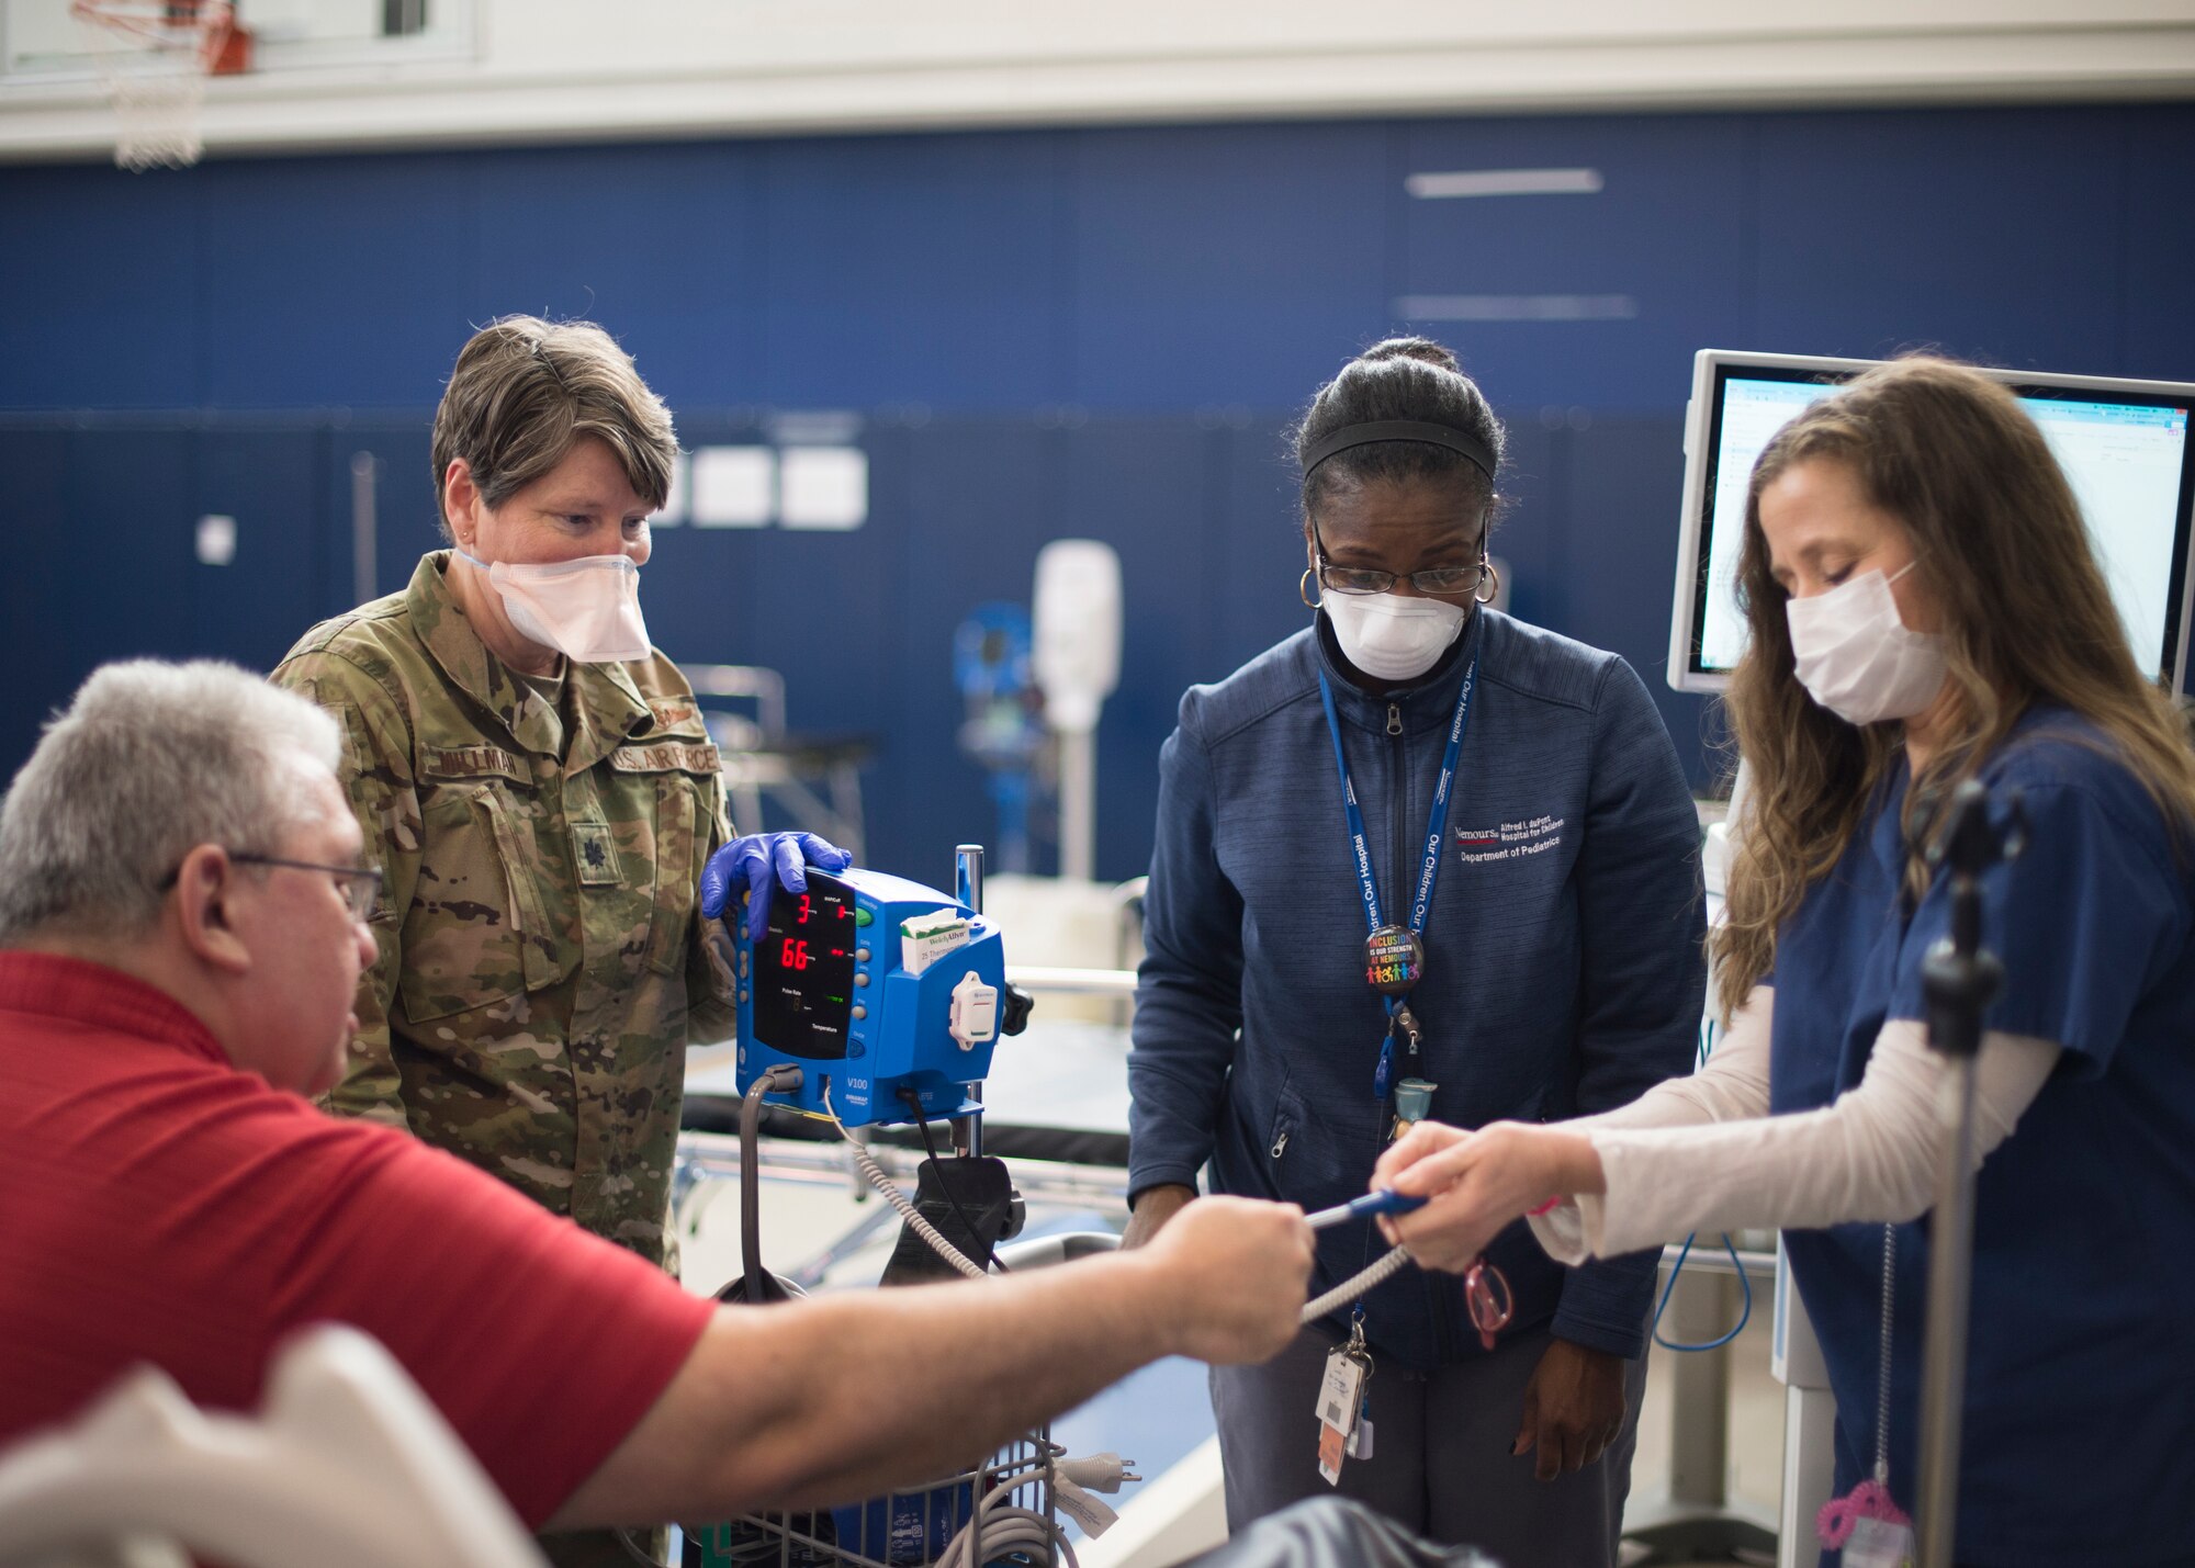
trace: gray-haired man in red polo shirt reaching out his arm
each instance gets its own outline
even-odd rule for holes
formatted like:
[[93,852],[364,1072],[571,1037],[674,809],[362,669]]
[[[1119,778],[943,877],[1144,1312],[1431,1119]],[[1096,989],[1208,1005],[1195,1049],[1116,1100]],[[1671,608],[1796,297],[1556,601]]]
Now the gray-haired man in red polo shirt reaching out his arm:
[[125,1366],[252,1408],[349,1322],[531,1526],[915,1485],[1161,1355],[1295,1335],[1310,1232],[1207,1199],[1141,1252],[713,1307],[399,1131],[320,1116],[373,870],[340,736],[241,670],[97,672],[0,806],[0,1445]]

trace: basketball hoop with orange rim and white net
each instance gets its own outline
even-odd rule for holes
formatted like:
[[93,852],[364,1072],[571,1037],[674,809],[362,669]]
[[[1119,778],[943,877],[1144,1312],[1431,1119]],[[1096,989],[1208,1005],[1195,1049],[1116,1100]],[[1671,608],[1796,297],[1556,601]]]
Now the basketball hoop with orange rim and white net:
[[114,101],[114,163],[132,173],[198,163],[206,77],[241,70],[230,0],[70,0]]

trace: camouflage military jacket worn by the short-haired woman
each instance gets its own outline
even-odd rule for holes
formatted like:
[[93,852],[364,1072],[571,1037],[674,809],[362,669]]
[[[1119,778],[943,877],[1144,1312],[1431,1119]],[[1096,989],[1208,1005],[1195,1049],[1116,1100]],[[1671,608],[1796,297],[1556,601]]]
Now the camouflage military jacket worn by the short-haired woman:
[[696,911],[729,832],[718,753],[661,652],[571,663],[555,712],[481,643],[446,562],[274,672],[342,720],[384,874],[331,1102],[661,1263],[685,1045],[733,1028]]

